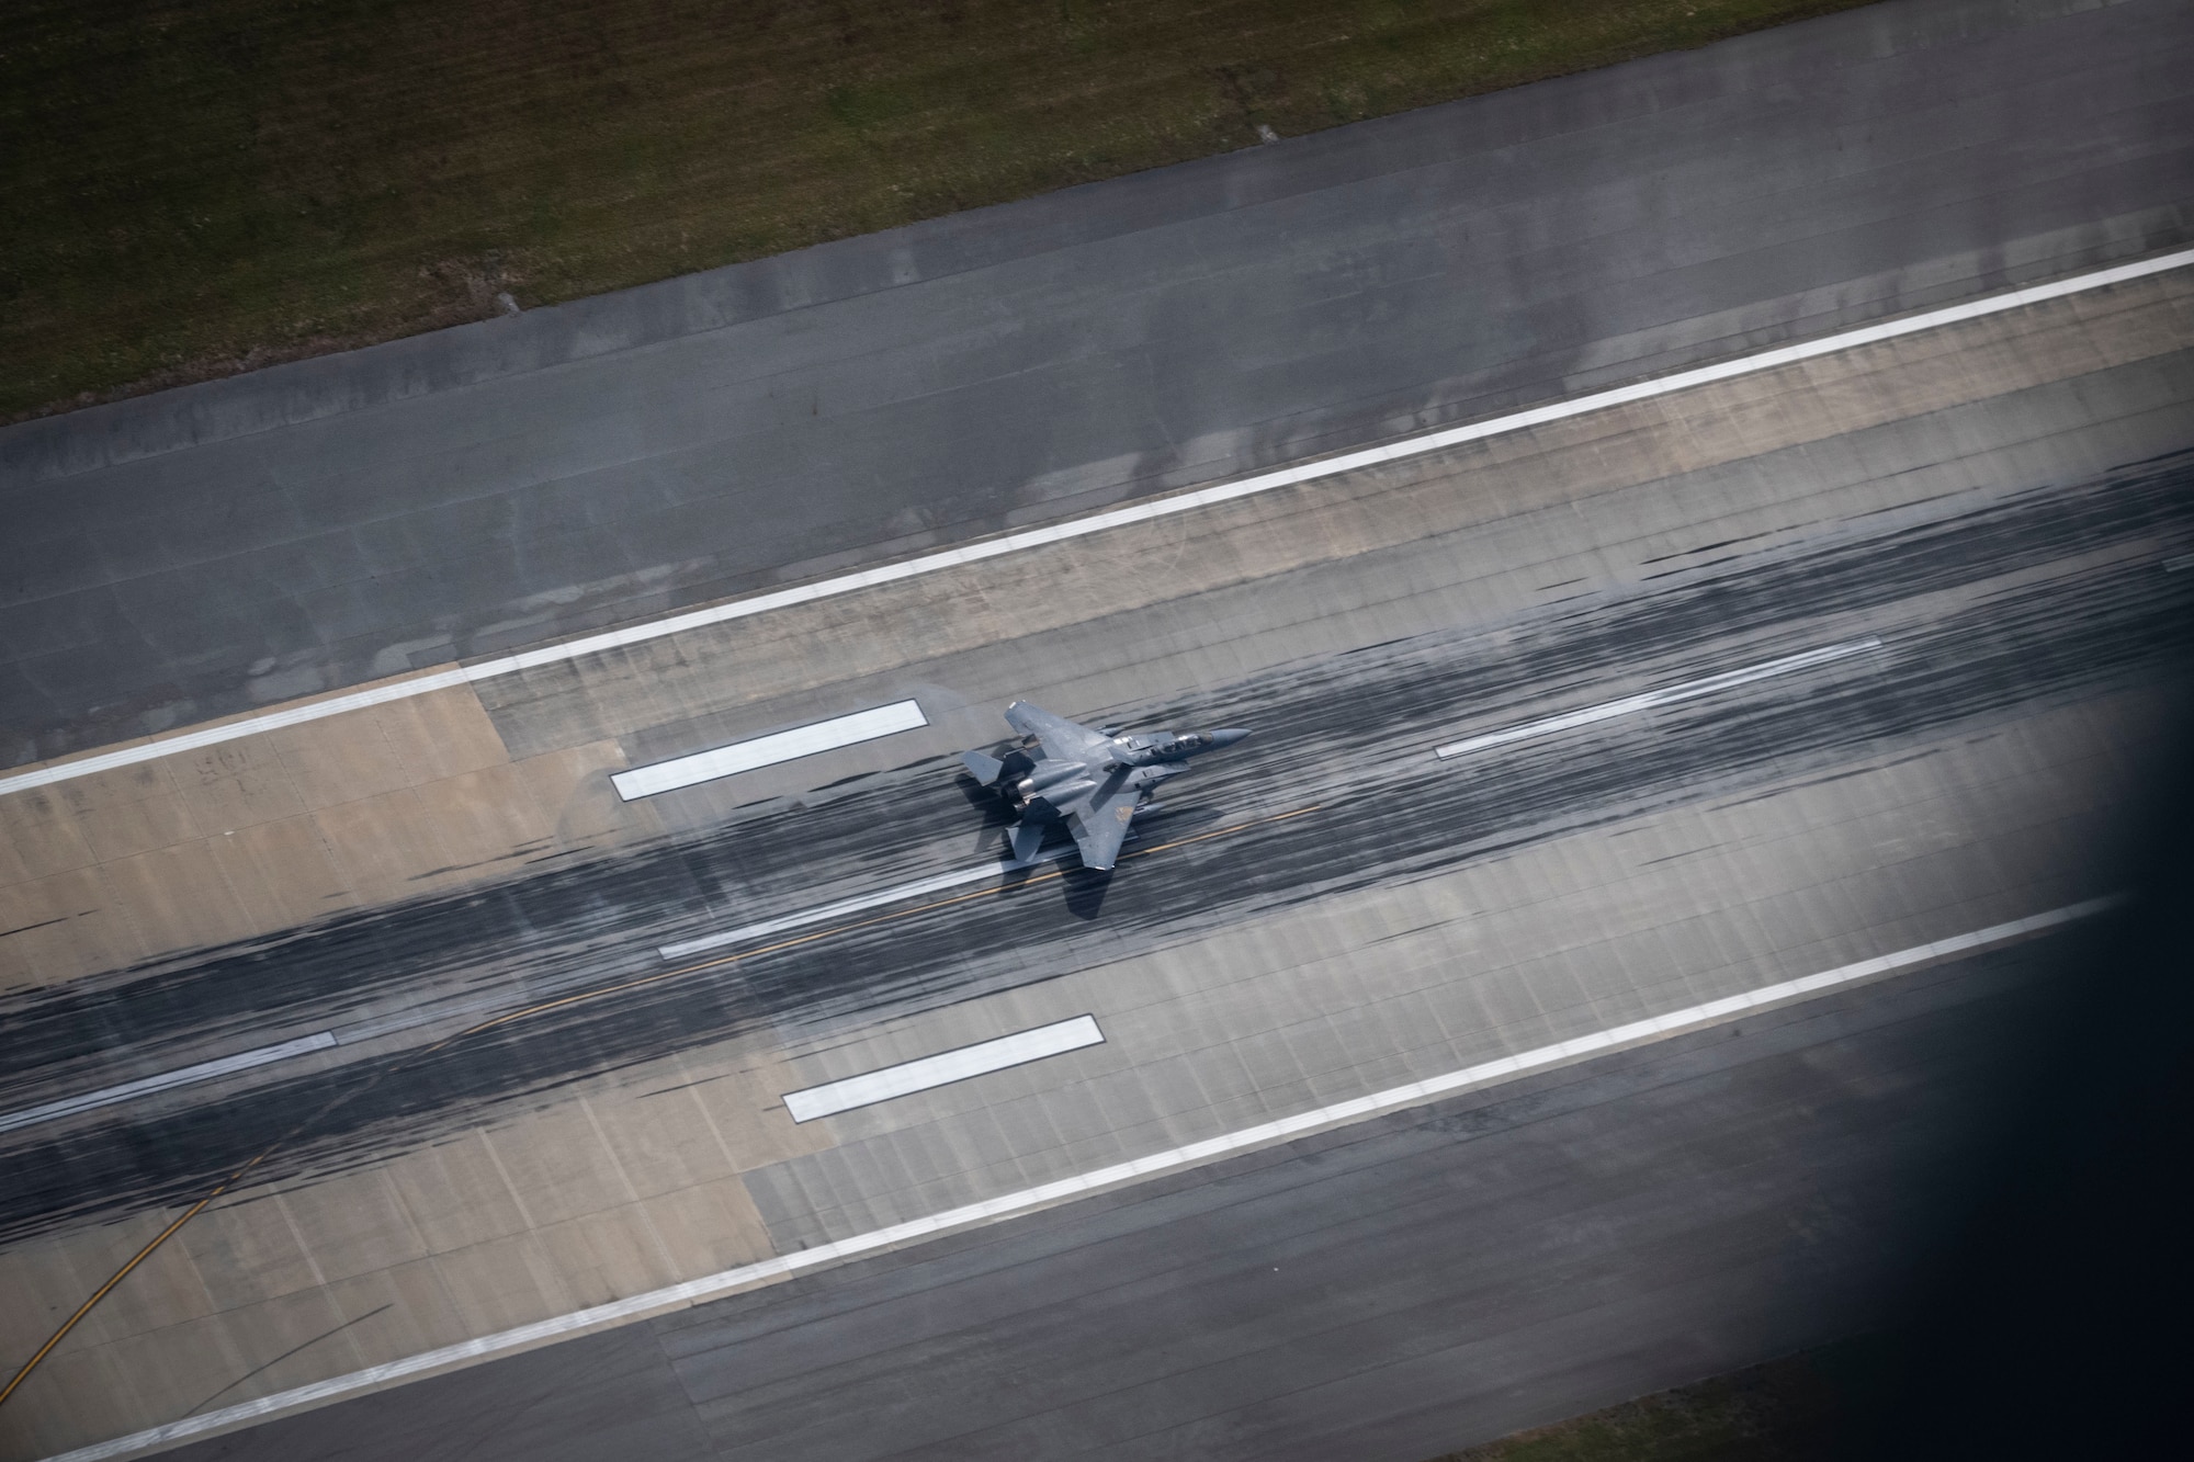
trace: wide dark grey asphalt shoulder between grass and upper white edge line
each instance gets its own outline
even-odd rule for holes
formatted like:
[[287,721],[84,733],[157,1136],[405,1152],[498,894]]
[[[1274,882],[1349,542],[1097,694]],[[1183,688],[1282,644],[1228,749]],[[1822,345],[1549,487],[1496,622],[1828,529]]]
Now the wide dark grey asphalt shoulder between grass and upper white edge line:
[[0,764],[2190,237],[2176,0],[1896,0],[0,432]]

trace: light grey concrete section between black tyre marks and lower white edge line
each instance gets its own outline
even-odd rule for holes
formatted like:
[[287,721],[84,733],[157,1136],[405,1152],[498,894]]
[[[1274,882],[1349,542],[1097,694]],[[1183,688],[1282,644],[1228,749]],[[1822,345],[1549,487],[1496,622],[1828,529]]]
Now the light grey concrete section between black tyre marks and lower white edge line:
[[1082,1012],[1108,1043],[827,1117],[748,1183],[781,1249],[825,1242],[2091,898],[2165,727],[2065,707],[893,1021],[790,1076]]

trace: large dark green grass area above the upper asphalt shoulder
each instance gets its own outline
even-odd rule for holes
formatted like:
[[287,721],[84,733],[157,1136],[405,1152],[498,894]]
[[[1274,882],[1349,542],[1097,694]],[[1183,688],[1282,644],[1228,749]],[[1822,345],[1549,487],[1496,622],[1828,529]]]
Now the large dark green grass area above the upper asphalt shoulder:
[[0,419],[1861,0],[13,0]]

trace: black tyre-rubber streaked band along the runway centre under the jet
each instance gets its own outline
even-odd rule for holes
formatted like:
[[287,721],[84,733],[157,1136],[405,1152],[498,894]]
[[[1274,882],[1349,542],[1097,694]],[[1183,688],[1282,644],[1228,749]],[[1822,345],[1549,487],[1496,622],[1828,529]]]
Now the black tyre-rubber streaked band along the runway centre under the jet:
[[[1420,880],[1654,806],[1926,755],[2012,709],[2137,687],[2194,645],[2194,573],[2163,566],[2194,533],[2190,503],[2194,454],[2172,452],[2069,490],[1841,525],[1799,549],[1709,544],[1635,593],[1310,656],[1207,687],[1196,705],[1075,707],[1128,724],[1187,724],[1224,707],[1224,720],[1266,729],[1167,788],[1174,808],[1139,821],[1115,878],[1071,865],[1000,871],[974,898],[911,898],[761,935],[744,957],[739,944],[687,961],[658,955],[665,940],[706,929],[709,911],[739,909],[717,915],[735,926],[862,880],[891,887],[994,861],[985,845],[1000,834],[981,830],[1003,828],[1003,812],[948,757],[924,757],[632,854],[333,920],[118,988],[64,988],[11,1012],[22,1076],[0,1087],[0,1109],[81,1089],[81,1069],[116,1058],[180,1067],[244,1032],[255,1043],[329,1032],[338,1045],[316,1069],[270,1065],[250,1089],[239,1089],[246,1076],[178,1091],[127,1124],[0,1135],[15,1174],[0,1232],[184,1201],[208,1170],[329,1102],[340,1106],[268,1177],[428,1142],[487,1104],[603,1069],[755,1032],[827,1041],[836,1027]],[[1450,733],[1604,702],[1610,689],[1852,643],[1841,626],[1854,621],[1878,650],[1580,731],[1433,755]],[[680,964],[691,972],[617,990]],[[612,994],[428,1049],[480,1019],[590,990]],[[380,1080],[393,1058],[402,1076]]]

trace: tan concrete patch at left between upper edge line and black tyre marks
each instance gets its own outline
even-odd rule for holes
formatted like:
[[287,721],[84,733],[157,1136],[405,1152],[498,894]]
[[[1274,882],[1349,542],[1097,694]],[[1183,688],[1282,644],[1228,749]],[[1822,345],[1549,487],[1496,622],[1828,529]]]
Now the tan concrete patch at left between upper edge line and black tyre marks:
[[649,836],[610,742],[511,760],[463,687],[0,797],[0,990]]

